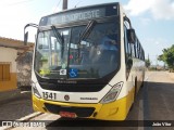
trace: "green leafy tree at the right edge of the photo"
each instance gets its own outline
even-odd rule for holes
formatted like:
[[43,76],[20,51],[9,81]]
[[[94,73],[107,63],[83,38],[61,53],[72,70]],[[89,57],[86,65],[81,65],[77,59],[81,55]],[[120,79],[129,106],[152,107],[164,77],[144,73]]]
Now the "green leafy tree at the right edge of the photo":
[[163,61],[167,66],[174,69],[174,44],[171,48],[162,50],[163,54],[159,55],[158,60]]

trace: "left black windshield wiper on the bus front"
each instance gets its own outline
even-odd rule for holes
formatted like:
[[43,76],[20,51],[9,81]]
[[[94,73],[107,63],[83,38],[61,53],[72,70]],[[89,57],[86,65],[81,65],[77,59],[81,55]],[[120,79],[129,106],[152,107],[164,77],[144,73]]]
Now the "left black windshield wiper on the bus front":
[[61,58],[63,58],[63,53],[64,53],[64,38],[63,35],[61,36],[61,34],[57,30],[55,26],[51,26],[53,34],[57,38],[57,40],[61,43],[62,49],[61,49]]

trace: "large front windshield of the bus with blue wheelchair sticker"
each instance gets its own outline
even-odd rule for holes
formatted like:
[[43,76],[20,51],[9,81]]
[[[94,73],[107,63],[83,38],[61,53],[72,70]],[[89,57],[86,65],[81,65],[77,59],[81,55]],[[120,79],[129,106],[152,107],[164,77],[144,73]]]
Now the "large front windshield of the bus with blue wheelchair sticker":
[[35,72],[50,79],[96,79],[117,69],[120,64],[119,25],[96,23],[82,38],[87,25],[39,31]]

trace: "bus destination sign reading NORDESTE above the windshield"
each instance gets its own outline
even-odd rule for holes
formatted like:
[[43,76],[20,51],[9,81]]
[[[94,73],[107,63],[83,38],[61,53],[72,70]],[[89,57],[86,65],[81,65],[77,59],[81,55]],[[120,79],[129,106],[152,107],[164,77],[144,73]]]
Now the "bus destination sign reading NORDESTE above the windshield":
[[41,18],[39,26],[67,24],[72,22],[88,21],[104,16],[117,16],[119,8],[116,4],[92,6],[85,9],[74,9]]

